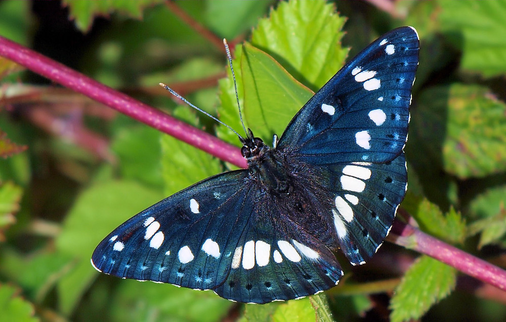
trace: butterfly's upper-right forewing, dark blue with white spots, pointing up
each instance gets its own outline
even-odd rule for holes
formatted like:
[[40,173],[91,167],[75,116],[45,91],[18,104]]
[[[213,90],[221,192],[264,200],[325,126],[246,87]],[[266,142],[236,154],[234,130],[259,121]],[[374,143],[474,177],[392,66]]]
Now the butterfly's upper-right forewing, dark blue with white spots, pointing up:
[[413,28],[383,35],[304,105],[278,148],[309,164],[393,159],[406,141],[417,65]]

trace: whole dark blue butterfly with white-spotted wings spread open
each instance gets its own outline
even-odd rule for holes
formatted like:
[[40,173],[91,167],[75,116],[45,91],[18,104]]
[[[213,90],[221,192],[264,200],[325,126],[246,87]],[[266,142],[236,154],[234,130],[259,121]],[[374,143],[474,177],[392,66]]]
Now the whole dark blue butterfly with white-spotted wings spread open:
[[419,40],[394,29],[336,73],[266,145],[240,138],[248,169],[169,196],[114,229],[93,266],[243,303],[317,294],[370,259],[407,189],[403,147]]

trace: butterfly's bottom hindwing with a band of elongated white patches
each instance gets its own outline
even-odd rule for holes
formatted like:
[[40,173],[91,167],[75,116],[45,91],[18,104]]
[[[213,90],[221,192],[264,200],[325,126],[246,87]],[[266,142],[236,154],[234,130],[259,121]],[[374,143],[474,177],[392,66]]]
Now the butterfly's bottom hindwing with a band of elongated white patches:
[[256,191],[260,193],[252,198],[258,202],[252,207],[251,224],[234,251],[237,261],[216,292],[240,302],[267,303],[316,294],[337,284],[343,272],[332,252],[313,237],[312,227],[288,220],[297,198],[283,201]]

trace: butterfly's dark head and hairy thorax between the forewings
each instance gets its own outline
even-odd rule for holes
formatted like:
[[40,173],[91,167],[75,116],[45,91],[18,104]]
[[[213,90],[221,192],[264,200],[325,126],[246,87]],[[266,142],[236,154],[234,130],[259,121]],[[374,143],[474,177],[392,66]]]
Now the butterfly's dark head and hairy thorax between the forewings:
[[243,140],[241,154],[248,162],[250,176],[264,188],[277,194],[288,194],[292,190],[287,167],[275,150],[262,139],[251,136]]

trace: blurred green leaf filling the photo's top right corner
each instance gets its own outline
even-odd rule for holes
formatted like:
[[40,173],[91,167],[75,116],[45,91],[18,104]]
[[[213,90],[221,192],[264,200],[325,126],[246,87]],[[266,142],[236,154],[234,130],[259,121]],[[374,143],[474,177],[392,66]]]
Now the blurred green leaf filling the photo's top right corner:
[[439,1],[443,32],[461,49],[463,69],[487,77],[506,72],[506,2]]

